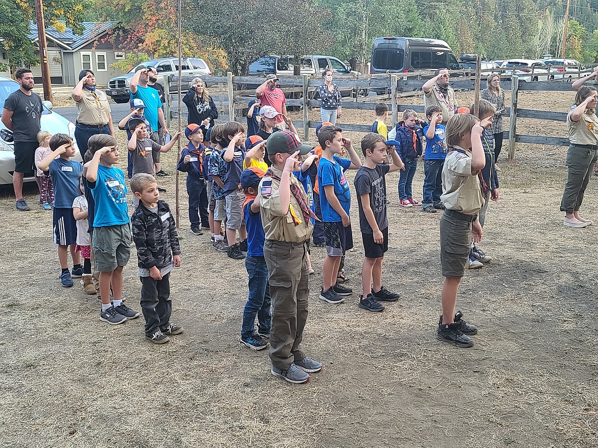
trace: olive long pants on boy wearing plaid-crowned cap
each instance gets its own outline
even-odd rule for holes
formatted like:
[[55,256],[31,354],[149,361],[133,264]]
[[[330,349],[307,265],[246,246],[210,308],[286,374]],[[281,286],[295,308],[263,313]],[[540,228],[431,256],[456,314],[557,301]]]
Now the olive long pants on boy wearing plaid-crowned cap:
[[306,254],[304,243],[264,243],[272,302],[269,355],[272,365],[281,370],[306,357],[301,348],[309,299]]

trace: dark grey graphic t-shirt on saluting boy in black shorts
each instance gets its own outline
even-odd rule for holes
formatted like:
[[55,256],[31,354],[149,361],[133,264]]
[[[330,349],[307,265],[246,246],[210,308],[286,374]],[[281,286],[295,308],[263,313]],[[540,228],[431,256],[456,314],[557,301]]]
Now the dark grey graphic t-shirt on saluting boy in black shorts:
[[370,207],[374,212],[374,218],[380,230],[388,227],[386,216],[386,179],[390,165],[378,164],[376,168],[361,166],[355,175],[355,191],[357,192],[357,205],[359,208],[359,228],[364,234],[373,234],[374,231],[365,217],[364,208],[361,204],[361,195],[370,194]]

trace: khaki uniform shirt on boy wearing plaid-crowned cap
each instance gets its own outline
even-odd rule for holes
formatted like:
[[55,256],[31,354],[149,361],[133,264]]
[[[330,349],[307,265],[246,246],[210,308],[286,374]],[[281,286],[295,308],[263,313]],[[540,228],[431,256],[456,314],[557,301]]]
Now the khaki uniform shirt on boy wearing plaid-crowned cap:
[[[282,171],[270,167],[276,176],[281,177]],[[303,189],[301,182],[291,174],[291,183],[298,185],[301,189],[305,200],[307,201],[307,194]],[[270,176],[264,176],[260,182],[260,211],[262,218],[262,225],[264,226],[264,233],[266,240],[286,241],[286,243],[304,243],[312,237],[313,226],[310,219],[304,219],[299,202],[295,199],[291,192],[291,207],[289,210],[282,210],[280,208],[280,181]],[[301,223],[295,226],[293,216],[301,220]]]

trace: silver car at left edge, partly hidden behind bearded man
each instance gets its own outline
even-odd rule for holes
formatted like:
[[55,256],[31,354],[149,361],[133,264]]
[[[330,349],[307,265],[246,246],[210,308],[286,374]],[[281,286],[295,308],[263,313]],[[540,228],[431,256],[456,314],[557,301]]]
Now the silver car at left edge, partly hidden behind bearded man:
[[[6,76],[0,75],[0,104],[4,104],[8,95],[13,93],[19,88],[19,83],[13,81],[13,79],[7,78]],[[2,115],[2,109],[0,109],[0,116]],[[6,129],[4,124],[0,122],[0,129]],[[53,134],[63,133],[68,134],[72,137],[75,148],[77,148],[77,142],[75,141],[75,125],[64,118],[59,113],[52,111],[52,103],[44,101],[44,110],[41,116],[41,129],[50,131]],[[81,155],[77,148],[74,159],[81,162]],[[0,185],[9,185],[13,183],[14,173],[14,150],[12,142],[5,142],[0,139]],[[34,173],[26,173],[24,182],[35,181]]]

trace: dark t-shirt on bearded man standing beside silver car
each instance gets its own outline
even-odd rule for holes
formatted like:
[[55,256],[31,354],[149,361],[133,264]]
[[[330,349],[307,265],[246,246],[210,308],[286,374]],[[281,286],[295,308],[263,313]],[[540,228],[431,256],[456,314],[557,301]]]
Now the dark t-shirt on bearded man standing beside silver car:
[[31,92],[26,95],[20,89],[11,93],[4,102],[4,109],[13,111],[13,135],[15,142],[37,142],[41,128],[41,97]]

